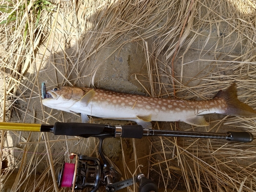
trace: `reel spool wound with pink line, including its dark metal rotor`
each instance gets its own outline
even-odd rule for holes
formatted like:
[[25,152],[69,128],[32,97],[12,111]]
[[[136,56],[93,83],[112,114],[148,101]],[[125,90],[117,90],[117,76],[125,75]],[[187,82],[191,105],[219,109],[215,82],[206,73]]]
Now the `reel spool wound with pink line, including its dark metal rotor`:
[[58,173],[59,187],[72,187],[72,190],[90,188],[90,192],[96,191],[101,178],[99,159],[71,153],[70,159],[74,158],[75,163],[62,163]]

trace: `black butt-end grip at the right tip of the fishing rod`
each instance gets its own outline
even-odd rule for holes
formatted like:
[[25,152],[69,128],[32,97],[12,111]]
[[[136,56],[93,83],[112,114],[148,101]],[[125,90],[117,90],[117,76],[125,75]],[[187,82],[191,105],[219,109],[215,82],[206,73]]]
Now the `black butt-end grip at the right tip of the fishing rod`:
[[227,132],[228,141],[251,142],[253,135],[250,132]]

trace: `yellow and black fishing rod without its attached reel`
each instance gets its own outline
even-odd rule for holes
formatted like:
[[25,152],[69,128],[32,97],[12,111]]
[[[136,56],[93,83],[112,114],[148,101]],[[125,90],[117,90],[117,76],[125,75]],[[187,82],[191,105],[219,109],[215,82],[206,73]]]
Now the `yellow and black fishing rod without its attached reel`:
[[251,142],[250,132],[187,132],[170,130],[143,129],[141,125],[104,125],[77,122],[56,122],[54,124],[0,122],[0,130],[51,132],[54,135],[80,137],[124,137],[141,139],[144,136],[193,137],[204,139],[226,139],[227,141]]

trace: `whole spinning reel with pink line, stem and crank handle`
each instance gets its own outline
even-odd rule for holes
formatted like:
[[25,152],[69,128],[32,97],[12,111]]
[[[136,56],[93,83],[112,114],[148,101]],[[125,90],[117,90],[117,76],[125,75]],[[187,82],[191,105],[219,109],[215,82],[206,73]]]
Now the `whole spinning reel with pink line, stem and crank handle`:
[[103,159],[102,165],[98,158],[71,153],[69,158],[75,159],[75,162],[62,163],[58,173],[57,183],[59,187],[72,187],[72,191],[88,188],[90,192],[95,192],[100,185],[104,185],[107,192],[113,192],[133,185],[134,182],[139,182],[140,192],[158,191],[157,185],[153,181],[146,179],[143,174],[139,174],[135,178],[119,181],[122,176],[121,172],[103,153],[101,138],[99,153]]

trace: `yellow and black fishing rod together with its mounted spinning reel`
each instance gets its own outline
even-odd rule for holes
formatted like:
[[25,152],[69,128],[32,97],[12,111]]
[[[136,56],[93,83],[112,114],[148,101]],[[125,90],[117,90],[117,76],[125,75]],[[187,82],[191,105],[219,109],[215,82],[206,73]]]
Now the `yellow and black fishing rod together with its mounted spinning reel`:
[[107,192],[113,192],[139,183],[140,192],[158,192],[157,185],[150,179],[139,174],[134,178],[119,181],[122,174],[119,168],[104,154],[103,140],[109,137],[137,138],[143,136],[170,136],[194,137],[209,139],[226,139],[228,141],[251,142],[253,135],[249,132],[227,133],[201,133],[169,130],[143,129],[141,125],[104,125],[91,123],[63,123],[49,124],[0,122],[0,130],[51,132],[54,135],[68,135],[80,137],[97,137],[99,139],[99,154],[103,163],[98,158],[71,153],[69,158],[72,163],[62,163],[58,171],[57,183],[59,187],[70,187],[72,191],[90,189],[95,192],[100,185],[105,186]]

